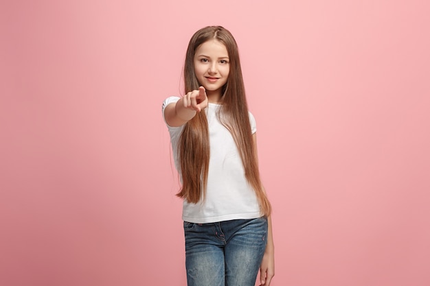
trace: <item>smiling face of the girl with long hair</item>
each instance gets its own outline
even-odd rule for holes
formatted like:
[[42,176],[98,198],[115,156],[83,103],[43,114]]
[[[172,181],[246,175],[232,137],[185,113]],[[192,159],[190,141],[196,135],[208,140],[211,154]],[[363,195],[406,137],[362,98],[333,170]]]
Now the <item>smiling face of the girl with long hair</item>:
[[229,54],[225,45],[213,39],[197,47],[194,55],[194,72],[199,83],[206,88],[208,97],[221,96],[229,71]]

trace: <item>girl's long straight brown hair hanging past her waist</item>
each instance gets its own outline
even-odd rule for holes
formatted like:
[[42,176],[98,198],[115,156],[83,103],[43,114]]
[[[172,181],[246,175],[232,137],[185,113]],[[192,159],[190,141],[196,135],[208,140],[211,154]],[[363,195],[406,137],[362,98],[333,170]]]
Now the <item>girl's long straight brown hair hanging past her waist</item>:
[[[220,26],[204,27],[192,36],[185,56],[185,93],[199,89],[200,84],[194,73],[194,53],[201,44],[212,39],[223,43],[229,55],[229,75],[227,84],[223,86],[218,119],[231,132],[236,142],[245,169],[245,178],[256,191],[260,212],[270,215],[271,205],[260,180],[256,146],[249,124],[238,46],[227,29]],[[177,195],[188,202],[197,203],[205,198],[209,171],[210,143],[205,112],[197,112],[196,116],[185,123],[178,149],[182,188]]]

